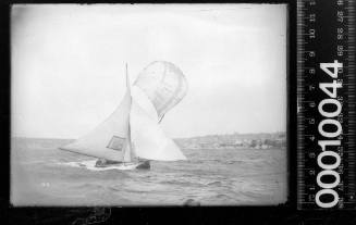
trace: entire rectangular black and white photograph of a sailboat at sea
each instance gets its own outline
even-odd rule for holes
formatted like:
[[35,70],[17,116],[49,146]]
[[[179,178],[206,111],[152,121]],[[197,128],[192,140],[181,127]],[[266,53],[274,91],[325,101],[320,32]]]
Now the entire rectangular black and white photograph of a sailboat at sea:
[[287,201],[287,5],[13,4],[15,207]]

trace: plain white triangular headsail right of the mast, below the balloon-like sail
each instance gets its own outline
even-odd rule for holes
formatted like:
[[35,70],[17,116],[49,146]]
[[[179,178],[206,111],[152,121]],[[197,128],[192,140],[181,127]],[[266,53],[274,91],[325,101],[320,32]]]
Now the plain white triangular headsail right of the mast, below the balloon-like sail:
[[139,92],[139,88],[133,87],[130,125],[135,155],[146,160],[186,160],[181,149],[159,126],[157,113],[150,110],[154,105],[148,97]]

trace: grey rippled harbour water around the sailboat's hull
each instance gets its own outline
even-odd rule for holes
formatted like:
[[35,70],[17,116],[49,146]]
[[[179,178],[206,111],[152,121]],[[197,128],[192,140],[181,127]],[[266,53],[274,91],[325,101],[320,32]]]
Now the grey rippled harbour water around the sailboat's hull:
[[286,201],[286,150],[183,149],[188,161],[149,171],[88,171],[63,163],[93,158],[58,150],[67,140],[12,139],[15,205],[279,204]]

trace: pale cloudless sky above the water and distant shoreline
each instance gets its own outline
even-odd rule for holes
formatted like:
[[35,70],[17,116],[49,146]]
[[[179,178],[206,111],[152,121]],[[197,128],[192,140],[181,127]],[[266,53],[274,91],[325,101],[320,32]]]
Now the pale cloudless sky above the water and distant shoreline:
[[12,136],[78,138],[150,62],[182,70],[172,138],[286,129],[285,4],[17,4],[11,13]]

